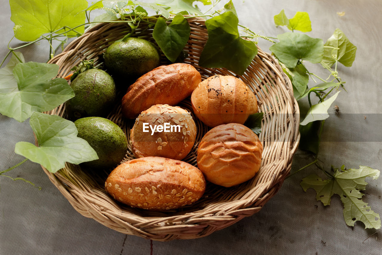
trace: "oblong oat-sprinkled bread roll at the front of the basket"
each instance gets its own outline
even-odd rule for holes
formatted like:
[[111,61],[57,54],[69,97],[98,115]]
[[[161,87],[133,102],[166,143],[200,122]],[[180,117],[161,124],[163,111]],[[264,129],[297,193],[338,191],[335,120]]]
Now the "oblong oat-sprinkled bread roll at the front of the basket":
[[197,201],[206,190],[206,180],[189,163],[144,157],[115,168],[105,182],[105,189],[121,203],[161,211]]

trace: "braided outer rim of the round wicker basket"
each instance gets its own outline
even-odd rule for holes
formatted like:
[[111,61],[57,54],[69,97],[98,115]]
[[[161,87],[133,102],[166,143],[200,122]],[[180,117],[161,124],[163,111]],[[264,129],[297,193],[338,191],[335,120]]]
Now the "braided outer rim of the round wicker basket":
[[[152,18],[156,19],[158,16],[160,15],[153,16]],[[185,15],[185,17],[187,18],[187,15]],[[200,26],[204,30],[206,30],[206,26],[204,24],[205,21],[206,20],[204,20],[201,17],[188,18],[189,23],[193,23],[193,22],[199,23],[198,26]],[[53,57],[48,63],[57,62],[57,60],[60,60],[61,58],[65,58],[69,56],[70,54],[73,54],[73,46],[77,46],[78,44],[81,44],[92,33],[96,33],[97,31],[99,31],[99,29],[104,29],[105,27],[110,26],[110,24],[111,23],[100,23],[94,26],[93,28],[87,30],[83,35],[71,41],[71,43],[65,47],[62,53]],[[76,47],[74,47],[74,49],[75,48]],[[238,206],[238,208],[235,210],[228,211],[229,213],[227,215],[214,214],[212,216],[209,216],[209,213],[203,212],[203,213],[195,214],[194,217],[189,217],[188,215],[187,217],[188,220],[185,222],[180,222],[180,223],[178,221],[176,222],[173,221],[174,217],[177,217],[178,215],[172,215],[168,217],[142,217],[145,219],[147,218],[146,219],[147,221],[146,222],[138,221],[134,223],[134,222],[128,222],[126,219],[123,219],[123,216],[121,216],[117,212],[113,212],[110,210],[102,211],[102,209],[100,210],[99,208],[97,209],[96,207],[99,205],[94,206],[94,204],[92,204],[91,202],[92,193],[90,191],[87,191],[87,192],[83,191],[83,194],[81,194],[80,191],[76,190],[75,185],[71,185],[70,178],[68,176],[62,175],[62,173],[60,173],[61,171],[53,174],[53,173],[50,173],[46,168],[42,167],[44,172],[48,175],[53,185],[55,185],[58,188],[58,190],[63,194],[63,196],[65,196],[65,198],[68,199],[68,201],[73,206],[73,208],[76,209],[76,211],[78,211],[83,216],[91,217],[95,219],[96,221],[100,222],[101,224],[104,224],[104,222],[99,220],[99,216],[98,216],[98,214],[102,214],[103,217],[112,219],[113,222],[120,223],[120,226],[111,226],[111,227],[108,226],[108,227],[115,229],[119,232],[123,232],[125,234],[138,235],[138,236],[152,239],[152,240],[165,241],[165,240],[172,240],[172,239],[199,238],[199,237],[209,235],[215,230],[230,226],[231,224],[242,219],[243,217],[251,216],[255,212],[259,211],[262,208],[262,206],[270,198],[272,198],[272,196],[274,196],[277,193],[277,191],[280,189],[283,183],[283,180],[285,180],[286,176],[290,172],[291,161],[293,159],[293,155],[295,154],[297,150],[299,139],[300,139],[299,130],[298,130],[299,108],[298,108],[296,99],[293,97],[293,88],[292,88],[290,79],[288,78],[287,75],[283,73],[282,67],[280,66],[280,64],[278,64],[278,61],[277,59],[275,59],[274,56],[272,56],[268,52],[262,51],[259,47],[258,47],[258,54],[256,56],[258,56],[262,60],[262,63],[261,63],[262,65],[266,65],[267,68],[269,67],[269,72],[273,72],[278,77],[282,77],[283,80],[281,82],[285,83],[285,87],[277,88],[277,89],[285,90],[285,95],[289,95],[290,97],[289,100],[292,103],[291,105],[288,105],[287,113],[290,116],[293,116],[293,121],[292,119],[290,119],[290,122],[289,122],[290,126],[288,127],[291,127],[291,128],[294,127],[293,128],[294,132],[293,134],[290,134],[289,140],[288,141],[285,140],[286,142],[284,141],[284,143],[286,143],[286,149],[288,152],[284,155],[284,159],[281,160],[283,164],[281,164],[282,169],[278,170],[280,174],[278,176],[272,176],[272,178],[268,182],[263,183],[261,187],[257,187],[257,189],[260,188],[263,191],[262,191],[262,196],[259,197],[256,203],[251,201],[251,199],[249,199],[251,195],[249,194],[250,192],[248,192],[249,195],[246,194],[246,196],[244,196],[244,199],[240,200],[241,205]],[[62,107],[63,107],[62,105],[58,106],[55,110],[57,111],[58,108],[62,108]],[[48,111],[46,113],[57,114],[55,110]],[[264,114],[264,118],[265,118],[265,114]],[[264,119],[263,119],[263,122],[264,122]],[[36,138],[36,144],[37,144],[37,138]],[[66,164],[67,167],[69,165],[70,164]],[[254,192],[253,190],[249,190],[249,191]],[[82,199],[81,195],[88,196],[88,197],[86,199]],[[230,203],[230,202],[223,202],[223,206],[225,203]],[[95,217],[95,214],[97,214],[97,217]],[[180,213],[180,215],[183,215],[183,214]],[[207,220],[204,220],[204,221],[202,220],[206,218]],[[160,222],[163,222],[162,224],[163,226],[154,226],[151,228],[142,227],[142,226],[146,226],[147,224],[154,225],[154,222],[158,222],[159,219],[160,219]],[[205,229],[203,224],[206,224]],[[198,226],[198,228],[197,229],[194,228],[196,230],[194,230],[195,233],[193,234],[192,226],[196,226],[196,225]],[[211,227],[212,227],[212,230],[211,230]],[[191,231],[189,231],[189,233],[191,234],[186,234],[183,236],[170,234],[172,231],[175,231],[181,228],[191,229]],[[164,232],[166,234],[163,234]]]

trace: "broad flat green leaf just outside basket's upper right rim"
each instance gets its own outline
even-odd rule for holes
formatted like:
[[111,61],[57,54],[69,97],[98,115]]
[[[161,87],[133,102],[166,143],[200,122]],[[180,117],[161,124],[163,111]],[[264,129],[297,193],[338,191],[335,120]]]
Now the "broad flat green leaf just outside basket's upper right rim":
[[319,63],[324,56],[324,42],[306,34],[287,32],[279,34],[276,43],[269,47],[275,56],[288,68],[296,67],[299,60]]

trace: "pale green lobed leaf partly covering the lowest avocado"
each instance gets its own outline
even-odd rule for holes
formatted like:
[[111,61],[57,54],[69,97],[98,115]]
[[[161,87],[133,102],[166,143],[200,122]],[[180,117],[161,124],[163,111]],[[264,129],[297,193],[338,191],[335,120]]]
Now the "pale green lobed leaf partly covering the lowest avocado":
[[65,162],[79,164],[98,159],[95,150],[82,138],[73,122],[57,115],[33,113],[29,124],[39,147],[29,142],[18,142],[15,153],[39,163],[55,173]]

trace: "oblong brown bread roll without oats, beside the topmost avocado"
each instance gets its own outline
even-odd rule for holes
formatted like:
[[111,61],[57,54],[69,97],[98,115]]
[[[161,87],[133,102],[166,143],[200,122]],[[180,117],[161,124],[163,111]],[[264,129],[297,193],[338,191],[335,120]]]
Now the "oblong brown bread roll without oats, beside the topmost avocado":
[[199,72],[190,64],[162,65],[142,75],[122,98],[122,113],[135,118],[152,105],[176,105],[201,82]]

